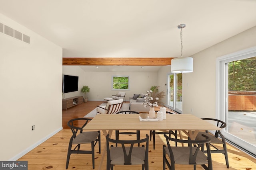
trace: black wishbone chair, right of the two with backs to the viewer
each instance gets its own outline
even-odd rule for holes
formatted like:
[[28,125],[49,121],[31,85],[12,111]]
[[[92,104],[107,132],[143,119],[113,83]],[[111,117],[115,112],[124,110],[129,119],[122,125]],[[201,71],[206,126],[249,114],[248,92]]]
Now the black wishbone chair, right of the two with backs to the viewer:
[[[212,170],[212,156],[209,145],[211,139],[208,136],[203,135],[204,140],[195,141],[190,139],[174,139],[165,134],[164,137],[166,138],[167,147],[165,145],[163,146],[163,170],[165,170],[166,164],[169,170],[175,170],[175,164],[193,165],[194,170],[196,170],[196,165],[201,165],[205,170]],[[172,147],[169,141],[188,143],[188,147]],[[198,145],[194,145],[194,143]],[[207,156],[200,150],[203,144],[206,144]]]

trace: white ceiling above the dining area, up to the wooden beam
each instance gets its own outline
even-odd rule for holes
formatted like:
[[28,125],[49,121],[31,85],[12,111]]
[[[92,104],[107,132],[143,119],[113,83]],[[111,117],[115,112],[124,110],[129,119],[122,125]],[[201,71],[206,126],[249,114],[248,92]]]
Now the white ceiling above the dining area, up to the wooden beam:
[[[256,0],[0,0],[63,57],[180,57],[256,25]],[[11,26],[11,25],[10,25]]]

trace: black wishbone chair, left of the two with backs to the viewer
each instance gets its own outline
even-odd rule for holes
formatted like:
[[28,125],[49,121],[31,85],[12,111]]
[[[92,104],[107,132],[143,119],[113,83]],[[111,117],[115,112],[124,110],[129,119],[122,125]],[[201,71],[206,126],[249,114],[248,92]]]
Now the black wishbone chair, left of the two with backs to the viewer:
[[[142,164],[142,170],[148,170],[148,135],[146,138],[134,141],[121,141],[110,139],[107,141],[107,168],[113,170],[113,165],[139,165]],[[121,144],[122,147],[110,146],[110,143]],[[134,147],[134,144],[143,143],[141,147]]]

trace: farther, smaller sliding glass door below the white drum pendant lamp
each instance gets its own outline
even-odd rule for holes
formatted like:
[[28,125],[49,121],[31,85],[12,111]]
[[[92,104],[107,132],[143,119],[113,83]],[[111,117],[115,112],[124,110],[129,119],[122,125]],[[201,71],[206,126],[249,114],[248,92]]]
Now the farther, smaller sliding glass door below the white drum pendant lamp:
[[182,74],[168,74],[168,106],[182,113]]

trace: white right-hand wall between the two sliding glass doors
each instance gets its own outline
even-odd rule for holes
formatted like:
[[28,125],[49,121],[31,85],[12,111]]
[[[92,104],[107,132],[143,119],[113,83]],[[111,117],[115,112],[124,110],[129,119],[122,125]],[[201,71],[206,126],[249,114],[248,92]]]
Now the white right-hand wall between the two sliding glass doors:
[[184,74],[183,113],[191,113],[201,118],[214,118],[216,115],[216,58],[254,46],[256,46],[256,27],[193,55],[194,72]]

